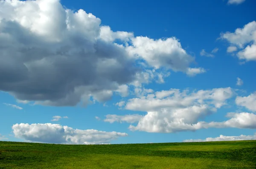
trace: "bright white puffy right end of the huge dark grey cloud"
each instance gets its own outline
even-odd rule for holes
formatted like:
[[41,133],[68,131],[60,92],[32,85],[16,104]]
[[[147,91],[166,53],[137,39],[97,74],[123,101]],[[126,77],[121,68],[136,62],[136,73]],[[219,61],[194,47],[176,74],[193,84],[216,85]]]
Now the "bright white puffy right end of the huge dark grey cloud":
[[186,72],[194,58],[186,53],[175,37],[166,39],[150,39],[148,37],[134,37],[133,46],[127,47],[131,56],[140,57],[159,69],[165,67],[174,71]]

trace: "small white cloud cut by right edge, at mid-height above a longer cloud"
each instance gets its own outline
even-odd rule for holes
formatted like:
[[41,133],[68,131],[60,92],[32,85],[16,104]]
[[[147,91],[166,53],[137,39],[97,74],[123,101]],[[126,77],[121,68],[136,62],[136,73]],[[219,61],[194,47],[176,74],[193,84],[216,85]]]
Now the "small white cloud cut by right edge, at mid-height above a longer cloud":
[[238,106],[244,106],[248,110],[256,112],[256,92],[250,94],[249,96],[237,96],[236,97],[236,104]]

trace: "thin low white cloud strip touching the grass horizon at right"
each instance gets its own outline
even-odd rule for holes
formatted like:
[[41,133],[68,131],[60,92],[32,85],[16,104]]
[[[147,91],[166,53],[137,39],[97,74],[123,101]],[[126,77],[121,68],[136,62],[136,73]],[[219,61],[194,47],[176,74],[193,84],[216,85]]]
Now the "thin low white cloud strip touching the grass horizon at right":
[[204,141],[239,141],[239,140],[256,140],[256,133],[254,135],[239,135],[239,136],[225,136],[220,135],[219,137],[206,139],[190,139],[183,140],[183,142],[204,142]]

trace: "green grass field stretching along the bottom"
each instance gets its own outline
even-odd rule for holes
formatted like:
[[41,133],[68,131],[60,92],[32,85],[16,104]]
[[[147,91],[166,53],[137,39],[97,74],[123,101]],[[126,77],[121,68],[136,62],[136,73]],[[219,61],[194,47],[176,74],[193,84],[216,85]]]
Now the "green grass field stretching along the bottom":
[[256,141],[60,145],[0,141],[0,169],[256,168]]

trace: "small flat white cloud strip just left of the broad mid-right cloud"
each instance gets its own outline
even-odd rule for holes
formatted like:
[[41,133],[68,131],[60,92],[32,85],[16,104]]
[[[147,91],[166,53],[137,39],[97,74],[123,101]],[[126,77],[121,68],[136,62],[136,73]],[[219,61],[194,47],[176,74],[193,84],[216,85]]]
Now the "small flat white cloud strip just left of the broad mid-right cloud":
[[133,114],[133,115],[106,115],[105,116],[105,122],[109,122],[109,123],[113,123],[113,122],[119,122],[122,123],[127,122],[127,123],[135,123],[137,121],[139,121],[143,116],[142,115],[138,115],[138,114]]

